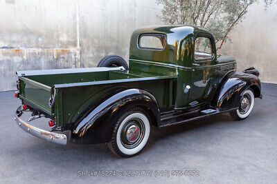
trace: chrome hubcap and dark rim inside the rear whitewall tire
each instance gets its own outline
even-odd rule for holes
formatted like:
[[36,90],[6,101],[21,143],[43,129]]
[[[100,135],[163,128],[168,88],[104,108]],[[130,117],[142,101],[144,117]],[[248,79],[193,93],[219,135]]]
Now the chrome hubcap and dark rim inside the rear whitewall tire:
[[124,147],[132,149],[143,140],[145,126],[141,119],[131,119],[123,126],[120,132],[121,143]]

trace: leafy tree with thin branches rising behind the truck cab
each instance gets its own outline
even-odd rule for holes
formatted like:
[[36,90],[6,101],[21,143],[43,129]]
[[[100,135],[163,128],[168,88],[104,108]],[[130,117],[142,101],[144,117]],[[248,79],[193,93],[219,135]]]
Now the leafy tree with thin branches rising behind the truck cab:
[[[264,0],[265,8],[274,0]],[[158,17],[164,23],[196,25],[211,31],[217,50],[247,14],[249,6],[258,0],[156,0],[163,9]]]

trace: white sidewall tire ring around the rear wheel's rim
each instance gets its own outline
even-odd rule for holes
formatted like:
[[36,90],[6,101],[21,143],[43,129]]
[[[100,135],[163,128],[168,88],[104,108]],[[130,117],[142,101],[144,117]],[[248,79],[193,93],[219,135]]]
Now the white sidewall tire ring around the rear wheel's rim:
[[[145,134],[143,136],[143,140],[139,145],[137,145],[132,149],[128,149],[124,147],[123,144],[121,143],[120,134],[121,134],[121,130],[123,130],[125,123],[127,123],[130,119],[133,119],[133,118],[141,119],[141,121],[145,126]],[[134,156],[136,154],[139,154],[139,152],[143,150],[143,147],[145,147],[146,143],[148,143],[148,139],[150,136],[150,121],[148,116],[139,110],[134,110],[134,111],[127,112],[124,116],[120,118],[119,121],[121,122],[118,125],[118,128],[116,130],[116,134],[115,134],[116,139],[114,142],[116,145],[116,148],[118,149],[120,154],[123,154],[124,156]]]

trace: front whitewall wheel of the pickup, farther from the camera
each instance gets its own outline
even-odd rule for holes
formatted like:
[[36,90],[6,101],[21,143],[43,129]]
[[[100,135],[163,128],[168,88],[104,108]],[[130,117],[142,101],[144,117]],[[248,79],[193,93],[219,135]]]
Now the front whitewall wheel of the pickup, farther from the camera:
[[242,94],[242,99],[240,99],[240,106],[238,110],[233,110],[230,112],[231,116],[235,120],[247,119],[251,111],[253,110],[255,102],[255,97],[252,90],[245,90]]

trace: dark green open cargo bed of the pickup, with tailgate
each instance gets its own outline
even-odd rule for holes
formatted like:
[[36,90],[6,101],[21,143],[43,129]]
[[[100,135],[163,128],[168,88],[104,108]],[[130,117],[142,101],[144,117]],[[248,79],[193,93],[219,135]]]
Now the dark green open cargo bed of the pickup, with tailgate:
[[[142,88],[152,93],[167,93],[164,80],[174,79],[175,74],[151,74],[123,70],[123,68],[80,68],[61,70],[34,70],[17,72],[20,97],[30,107],[54,117],[57,124],[72,123],[74,113],[82,113],[98,100],[98,95],[105,96],[112,89]],[[158,86],[155,86],[158,85]],[[48,101],[53,94],[55,106]],[[163,99],[160,99],[163,101]],[[167,102],[165,102],[167,103]]]

